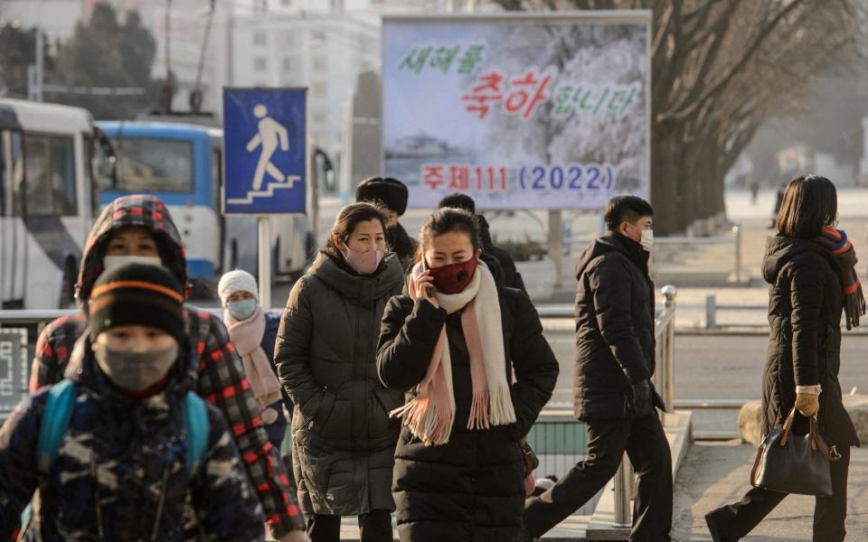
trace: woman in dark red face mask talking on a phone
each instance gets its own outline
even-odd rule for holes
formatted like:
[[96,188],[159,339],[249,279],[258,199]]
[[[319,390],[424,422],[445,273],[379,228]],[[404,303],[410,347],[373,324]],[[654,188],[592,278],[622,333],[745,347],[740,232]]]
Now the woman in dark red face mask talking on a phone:
[[[420,233],[408,294],[383,315],[377,369],[410,390],[392,491],[401,541],[512,540],[524,506],[518,441],[552,395],[558,362],[527,294],[479,261],[476,220],[441,209]],[[511,374],[515,382],[511,385]]]

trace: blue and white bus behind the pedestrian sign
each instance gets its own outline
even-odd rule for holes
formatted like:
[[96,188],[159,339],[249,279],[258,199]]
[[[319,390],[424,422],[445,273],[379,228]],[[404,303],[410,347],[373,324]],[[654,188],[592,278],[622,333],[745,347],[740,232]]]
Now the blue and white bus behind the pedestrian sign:
[[[101,192],[102,204],[128,193],[164,201],[184,240],[194,292],[211,292],[209,285],[230,269],[257,274],[256,218],[221,214],[222,130],[151,121],[97,124],[118,159],[116,182]],[[309,220],[272,217],[271,232],[272,276],[299,276],[314,248]]]

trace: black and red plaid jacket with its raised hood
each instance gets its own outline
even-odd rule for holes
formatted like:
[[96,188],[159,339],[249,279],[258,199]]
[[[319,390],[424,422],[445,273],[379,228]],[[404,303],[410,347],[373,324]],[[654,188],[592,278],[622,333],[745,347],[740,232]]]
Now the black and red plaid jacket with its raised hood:
[[[113,235],[123,229],[151,233],[163,265],[182,285],[187,284],[184,244],[169,211],[154,196],[130,195],[113,201],[99,215],[81,259],[77,296],[87,300],[103,271],[103,257]],[[259,407],[244,377],[241,358],[218,316],[184,305],[187,334],[198,356],[196,393],[219,408],[231,427],[250,482],[259,496],[266,522],[278,540],[303,534],[305,519],[290,490],[279,451],[269,444]],[[68,369],[71,350],[87,326],[83,313],[62,317],[45,326],[36,342],[31,390],[59,381]]]

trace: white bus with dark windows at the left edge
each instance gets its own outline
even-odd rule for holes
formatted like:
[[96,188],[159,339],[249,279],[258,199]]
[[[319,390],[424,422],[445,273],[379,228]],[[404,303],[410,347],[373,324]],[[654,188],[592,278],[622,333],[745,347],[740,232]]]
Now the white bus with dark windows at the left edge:
[[82,248],[114,177],[108,140],[80,107],[0,98],[0,306],[75,303]]

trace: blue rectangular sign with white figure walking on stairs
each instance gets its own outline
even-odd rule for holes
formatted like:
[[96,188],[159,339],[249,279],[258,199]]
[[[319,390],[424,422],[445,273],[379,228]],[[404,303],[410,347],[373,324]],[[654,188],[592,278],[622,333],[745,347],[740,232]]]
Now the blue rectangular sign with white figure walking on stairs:
[[223,214],[307,210],[307,89],[223,89]]

